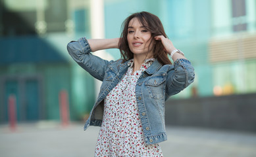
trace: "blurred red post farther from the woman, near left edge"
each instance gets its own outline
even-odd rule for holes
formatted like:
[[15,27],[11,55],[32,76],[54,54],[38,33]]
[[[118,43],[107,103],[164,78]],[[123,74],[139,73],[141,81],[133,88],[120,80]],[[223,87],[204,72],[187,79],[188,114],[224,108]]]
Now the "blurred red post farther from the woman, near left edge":
[[12,131],[16,130],[16,97],[10,95],[8,97],[9,126]]

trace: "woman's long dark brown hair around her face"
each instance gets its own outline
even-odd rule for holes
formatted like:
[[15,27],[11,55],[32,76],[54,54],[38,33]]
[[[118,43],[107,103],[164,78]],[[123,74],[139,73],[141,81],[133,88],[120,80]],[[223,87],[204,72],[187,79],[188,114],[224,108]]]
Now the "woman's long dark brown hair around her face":
[[157,35],[163,35],[164,37],[167,37],[163,24],[157,16],[149,12],[136,12],[128,16],[128,18],[126,18],[126,20],[124,20],[124,22],[122,23],[122,33],[118,46],[121,52],[123,62],[134,58],[134,54],[130,50],[127,40],[128,24],[133,18],[138,18],[141,25],[145,27],[147,31],[151,32],[152,40],[151,43],[149,43],[149,47],[151,47],[150,45],[153,44],[153,57],[156,58],[163,65],[172,64],[168,59],[167,52],[164,51],[164,46],[161,41],[156,41],[154,39],[154,37]]

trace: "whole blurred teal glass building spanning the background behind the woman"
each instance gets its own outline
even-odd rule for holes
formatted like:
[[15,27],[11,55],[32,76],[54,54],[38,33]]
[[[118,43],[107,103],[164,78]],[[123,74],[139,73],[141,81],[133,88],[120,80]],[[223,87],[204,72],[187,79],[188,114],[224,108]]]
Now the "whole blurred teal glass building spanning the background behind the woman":
[[[120,36],[133,12],[159,16],[166,34],[195,67],[195,82],[176,98],[256,92],[255,0],[1,0],[0,121],[17,97],[18,120],[59,119],[66,90],[72,119],[87,114],[99,86],[68,56],[80,37]],[[118,50],[102,52],[120,58]]]

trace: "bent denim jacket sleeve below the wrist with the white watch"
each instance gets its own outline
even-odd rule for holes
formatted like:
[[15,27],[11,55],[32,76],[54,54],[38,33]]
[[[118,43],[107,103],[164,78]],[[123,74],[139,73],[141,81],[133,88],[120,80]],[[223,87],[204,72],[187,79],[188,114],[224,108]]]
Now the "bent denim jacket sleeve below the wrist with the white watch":
[[176,60],[173,67],[167,72],[166,94],[168,97],[178,94],[192,84],[194,78],[195,73],[190,61],[186,59]]

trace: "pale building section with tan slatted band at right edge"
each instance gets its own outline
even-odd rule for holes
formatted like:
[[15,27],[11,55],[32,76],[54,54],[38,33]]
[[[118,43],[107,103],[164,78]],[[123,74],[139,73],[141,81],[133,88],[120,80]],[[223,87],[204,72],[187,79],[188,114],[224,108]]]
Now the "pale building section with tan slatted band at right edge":
[[256,3],[212,1],[213,33],[209,41],[213,94],[256,92]]

